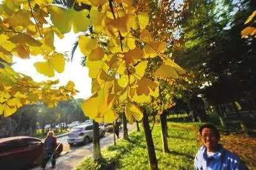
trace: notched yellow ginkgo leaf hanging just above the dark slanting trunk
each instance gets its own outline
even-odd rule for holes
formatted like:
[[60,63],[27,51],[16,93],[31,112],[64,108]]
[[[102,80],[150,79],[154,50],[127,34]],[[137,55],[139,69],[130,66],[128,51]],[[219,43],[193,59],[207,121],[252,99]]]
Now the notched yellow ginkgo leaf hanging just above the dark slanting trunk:
[[143,112],[139,109],[138,106],[134,105],[131,102],[128,102],[125,105],[125,116],[129,123],[133,123],[134,119],[140,121],[143,118]]

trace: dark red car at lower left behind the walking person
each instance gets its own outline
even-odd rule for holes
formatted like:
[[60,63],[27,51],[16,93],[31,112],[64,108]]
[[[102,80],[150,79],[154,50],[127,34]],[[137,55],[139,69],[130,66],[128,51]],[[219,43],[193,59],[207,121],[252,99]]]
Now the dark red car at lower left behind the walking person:
[[[59,145],[59,142],[57,142]],[[60,144],[56,155],[61,154]],[[44,142],[34,137],[8,137],[0,139],[1,169],[28,169],[40,162]]]

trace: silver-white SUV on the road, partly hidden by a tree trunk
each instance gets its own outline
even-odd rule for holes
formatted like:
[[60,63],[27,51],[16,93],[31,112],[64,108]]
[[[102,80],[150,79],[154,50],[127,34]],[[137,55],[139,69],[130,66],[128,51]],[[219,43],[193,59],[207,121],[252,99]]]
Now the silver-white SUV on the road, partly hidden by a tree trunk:
[[[100,137],[105,136],[105,130],[100,128]],[[73,127],[71,132],[67,135],[67,143],[73,145],[74,143],[88,144],[93,139],[93,125],[90,123]]]

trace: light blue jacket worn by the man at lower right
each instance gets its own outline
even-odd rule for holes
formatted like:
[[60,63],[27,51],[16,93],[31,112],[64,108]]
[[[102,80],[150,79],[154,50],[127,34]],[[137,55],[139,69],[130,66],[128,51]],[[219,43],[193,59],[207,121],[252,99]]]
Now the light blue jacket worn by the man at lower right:
[[195,155],[195,170],[243,170],[248,169],[238,156],[219,144],[218,150],[207,157],[206,147],[202,146]]

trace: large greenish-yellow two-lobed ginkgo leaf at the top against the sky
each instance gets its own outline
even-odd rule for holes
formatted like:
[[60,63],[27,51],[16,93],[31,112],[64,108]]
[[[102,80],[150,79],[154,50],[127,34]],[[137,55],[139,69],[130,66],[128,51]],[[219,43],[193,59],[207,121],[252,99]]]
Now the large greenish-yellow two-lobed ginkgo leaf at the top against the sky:
[[76,11],[73,8],[62,9],[58,6],[49,5],[48,11],[50,20],[61,33],[68,33],[71,30],[71,26],[73,26],[74,33],[86,31],[90,25],[90,20],[87,17],[89,11],[87,9]]

